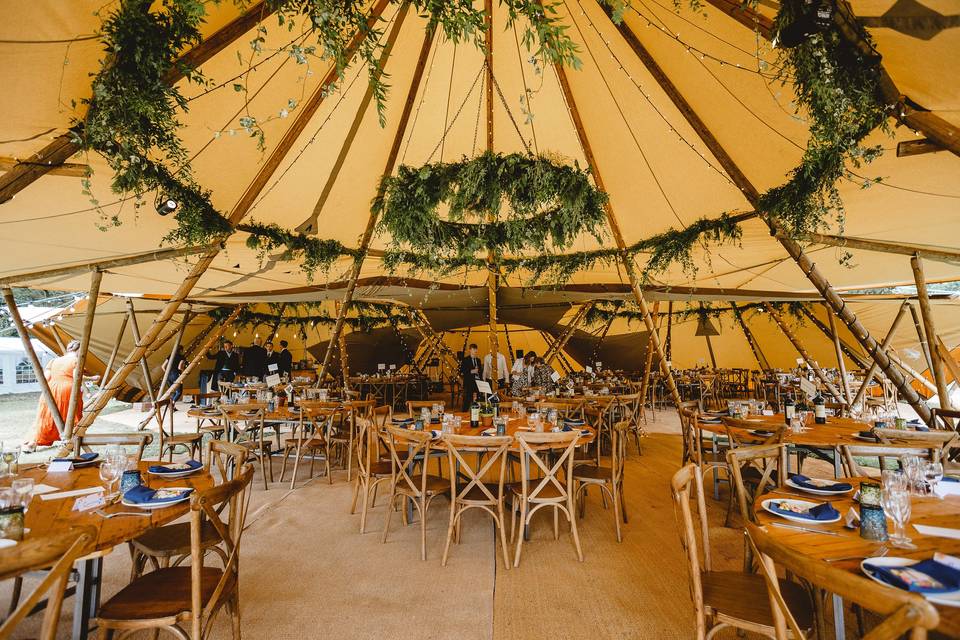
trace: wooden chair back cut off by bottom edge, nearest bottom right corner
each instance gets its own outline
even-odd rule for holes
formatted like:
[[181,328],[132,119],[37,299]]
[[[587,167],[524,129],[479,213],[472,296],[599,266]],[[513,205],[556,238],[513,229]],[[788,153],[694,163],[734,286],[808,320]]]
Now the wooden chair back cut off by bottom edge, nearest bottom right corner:
[[772,610],[777,640],[806,639],[811,633],[803,612],[798,611],[777,578],[777,567],[814,587],[837,594],[844,600],[875,611],[884,619],[862,636],[863,640],[897,640],[909,636],[927,637],[940,622],[937,610],[922,596],[891,589],[855,573],[814,560],[778,542],[763,528],[747,524],[747,535],[760,559],[760,575],[766,584],[767,603]]

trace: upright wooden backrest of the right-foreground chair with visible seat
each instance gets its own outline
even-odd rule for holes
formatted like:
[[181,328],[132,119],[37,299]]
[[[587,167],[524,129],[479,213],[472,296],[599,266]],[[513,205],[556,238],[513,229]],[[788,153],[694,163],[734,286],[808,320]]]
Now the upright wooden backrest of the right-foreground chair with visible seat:
[[[690,599],[699,617],[705,615],[702,573],[712,569],[710,530],[707,526],[707,505],[703,498],[703,475],[700,467],[690,463],[673,474],[670,481],[673,509],[680,527],[680,546],[687,556]],[[690,500],[697,501],[696,513]]]

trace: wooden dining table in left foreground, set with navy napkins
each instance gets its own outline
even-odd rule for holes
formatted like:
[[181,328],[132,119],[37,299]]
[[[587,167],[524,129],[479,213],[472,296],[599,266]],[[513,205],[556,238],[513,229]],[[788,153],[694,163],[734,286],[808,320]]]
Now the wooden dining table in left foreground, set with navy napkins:
[[[151,475],[147,472],[147,469],[155,464],[158,464],[158,462],[141,461],[138,465],[144,484],[152,489],[192,487],[202,490],[214,484],[213,477],[206,469],[182,478],[165,479]],[[46,465],[24,468],[20,477],[33,478],[37,485],[56,487],[58,492],[103,485],[100,480],[100,469],[96,464],[73,471],[56,473],[50,473]],[[148,511],[137,507],[128,507],[117,502],[103,507],[100,511],[106,514],[142,512],[144,515],[123,515],[106,518],[95,511],[74,511],[73,506],[77,497],[44,500],[40,495],[34,495],[27,508],[24,527],[29,529],[29,532],[26,533],[28,538],[53,534],[73,527],[87,527],[95,532],[95,543],[91,553],[78,561],[79,577],[74,592],[72,637],[74,640],[83,640],[87,638],[90,632],[90,620],[96,616],[97,609],[100,606],[103,557],[117,545],[124,544],[149,529],[168,524],[182,517],[189,511],[190,503],[184,501],[162,509]]]

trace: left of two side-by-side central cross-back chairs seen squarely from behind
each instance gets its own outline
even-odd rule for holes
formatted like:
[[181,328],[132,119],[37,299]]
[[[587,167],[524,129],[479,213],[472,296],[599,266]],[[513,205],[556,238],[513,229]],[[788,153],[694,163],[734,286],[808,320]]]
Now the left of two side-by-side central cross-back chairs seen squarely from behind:
[[[447,541],[443,546],[441,564],[447,566],[450,541],[455,539],[457,544],[460,543],[463,514],[470,509],[480,509],[493,518],[503,549],[503,564],[509,569],[510,552],[507,548],[506,520],[503,515],[503,482],[507,470],[507,450],[513,444],[513,437],[460,436],[445,433],[442,438],[447,446],[447,460],[450,463],[452,498]],[[466,456],[469,454],[476,454],[475,463],[467,460]],[[484,478],[494,478],[496,482],[485,482]]]

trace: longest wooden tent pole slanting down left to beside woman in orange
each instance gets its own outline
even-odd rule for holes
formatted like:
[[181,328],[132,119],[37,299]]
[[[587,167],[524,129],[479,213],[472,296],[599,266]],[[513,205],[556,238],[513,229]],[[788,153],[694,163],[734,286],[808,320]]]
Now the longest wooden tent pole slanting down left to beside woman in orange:
[[[368,27],[372,27],[374,24],[376,24],[377,20],[380,19],[380,15],[383,13],[384,9],[386,9],[388,4],[389,0],[377,0],[373,9],[370,11],[370,17],[367,19]],[[227,29],[227,27],[224,27],[224,29]],[[353,59],[357,49],[360,47],[361,42],[363,42],[365,38],[366,33],[364,31],[358,31],[356,34],[354,34],[353,39],[350,41],[350,44],[347,46],[347,50],[345,52],[348,61]],[[260,167],[257,175],[254,177],[253,181],[240,197],[240,200],[237,201],[237,204],[230,212],[229,221],[231,226],[235,228],[236,225],[243,220],[247,213],[249,213],[250,207],[253,206],[253,203],[266,187],[267,183],[270,181],[270,178],[280,166],[280,163],[300,137],[300,134],[303,133],[307,123],[313,118],[314,114],[317,112],[317,109],[320,108],[320,105],[323,104],[328,95],[330,86],[337,79],[339,79],[339,77],[340,74],[337,72],[337,67],[336,65],[333,65],[327,71],[327,74],[320,82],[320,85],[314,90],[307,101],[300,106],[298,110],[299,113],[290,124],[290,127],[284,132],[280,142],[277,143],[277,146],[270,153],[270,156],[267,158],[266,162]],[[133,351],[127,354],[127,357],[124,359],[123,366],[117,370],[117,373],[113,376],[113,379],[111,379],[109,385],[106,388],[100,389],[100,393],[98,393],[94,398],[89,411],[84,411],[83,418],[77,425],[79,432],[75,433],[74,435],[82,435],[83,431],[86,430],[86,428],[93,424],[94,420],[97,419],[100,411],[102,411],[103,408],[107,406],[107,403],[110,401],[110,399],[116,395],[117,391],[120,389],[120,386],[123,384],[123,381],[126,380],[130,372],[136,368],[137,362],[141,357],[143,357],[147,347],[157,339],[167,322],[169,322],[170,318],[172,318],[177,312],[180,304],[190,294],[190,292],[193,290],[193,287],[196,286],[197,282],[200,280],[200,277],[206,272],[207,268],[213,262],[213,259],[217,257],[219,252],[219,245],[214,245],[214,247],[204,253],[200,260],[198,260],[193,266],[193,268],[184,278],[183,282],[167,301],[167,304],[163,307],[163,309],[161,309],[160,313],[154,319],[153,324],[147,330],[147,333],[144,334],[143,343],[138,344]],[[68,444],[67,450],[69,450],[70,446],[72,445]]]

